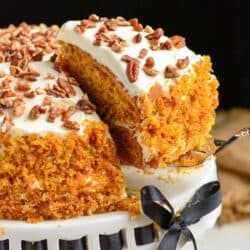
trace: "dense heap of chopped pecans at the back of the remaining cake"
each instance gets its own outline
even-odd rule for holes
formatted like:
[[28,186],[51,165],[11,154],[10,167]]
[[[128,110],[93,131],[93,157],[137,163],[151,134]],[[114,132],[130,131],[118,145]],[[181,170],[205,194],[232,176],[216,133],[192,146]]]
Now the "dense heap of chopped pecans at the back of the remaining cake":
[[41,60],[42,54],[51,53],[58,47],[55,43],[57,32],[57,26],[29,26],[24,23],[0,29],[0,61],[26,69],[29,61]]

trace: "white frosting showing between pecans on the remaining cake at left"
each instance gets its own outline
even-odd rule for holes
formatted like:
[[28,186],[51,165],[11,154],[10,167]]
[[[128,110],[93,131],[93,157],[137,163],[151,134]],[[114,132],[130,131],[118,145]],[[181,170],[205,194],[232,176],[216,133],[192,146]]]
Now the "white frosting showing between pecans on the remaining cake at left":
[[[65,78],[54,70],[53,64],[51,62],[31,62],[30,67],[32,70],[39,72],[40,76],[37,77],[36,81],[30,82],[30,86],[32,90],[35,90],[37,88],[45,89],[47,85],[53,86],[58,77]],[[9,74],[9,63],[2,63],[0,64],[0,71],[5,72],[6,74]],[[49,79],[47,76],[49,74],[52,74],[55,79]],[[4,80],[5,77],[0,78],[0,83]],[[15,90],[16,85],[19,78],[13,78],[13,80],[10,83],[10,87],[13,91],[16,93],[23,93],[23,91],[17,91]],[[73,86],[76,94],[71,97],[67,98],[57,98],[54,96],[49,95],[52,102],[58,103],[60,105],[64,105],[65,107],[69,106],[76,106],[77,102],[81,99],[81,97],[84,95],[83,91],[78,86]],[[0,88],[1,90],[1,88]],[[69,128],[66,128],[63,126],[62,116],[58,116],[55,118],[54,122],[48,122],[48,111],[44,114],[40,114],[40,116],[37,119],[30,119],[29,114],[31,109],[35,105],[41,105],[44,97],[48,96],[46,93],[37,94],[33,98],[26,98],[24,97],[25,102],[25,110],[24,113],[21,116],[14,116],[12,114],[13,110],[6,108],[4,112],[8,112],[12,118],[14,125],[12,126],[10,133],[14,134],[40,134],[44,135],[48,132],[53,132],[56,134],[67,134],[70,132]],[[10,97],[11,98],[11,97]],[[14,98],[14,97],[13,97]],[[2,123],[4,119],[4,114],[0,114],[0,123]],[[84,131],[84,121],[99,121],[99,118],[97,114],[94,112],[93,114],[86,114],[83,111],[76,110],[76,112],[70,117],[70,121],[78,122],[80,125],[80,129],[78,130],[79,134],[82,134]]]

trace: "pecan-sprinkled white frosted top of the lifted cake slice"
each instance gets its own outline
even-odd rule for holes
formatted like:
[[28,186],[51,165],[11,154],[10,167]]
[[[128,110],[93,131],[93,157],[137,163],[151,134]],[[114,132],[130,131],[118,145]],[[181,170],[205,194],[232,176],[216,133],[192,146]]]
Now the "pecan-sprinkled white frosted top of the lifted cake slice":
[[147,93],[156,83],[168,91],[174,79],[192,72],[192,64],[200,59],[183,37],[143,28],[136,18],[90,15],[65,23],[57,39],[78,46],[108,67],[132,96]]

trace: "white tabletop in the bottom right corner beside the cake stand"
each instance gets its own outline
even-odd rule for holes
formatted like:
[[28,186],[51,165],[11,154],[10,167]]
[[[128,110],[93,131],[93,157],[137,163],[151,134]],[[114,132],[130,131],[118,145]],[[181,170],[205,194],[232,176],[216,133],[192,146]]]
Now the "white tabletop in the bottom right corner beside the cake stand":
[[199,241],[199,250],[249,250],[250,220],[216,226]]

